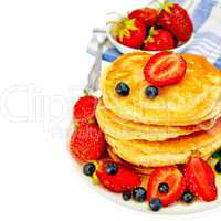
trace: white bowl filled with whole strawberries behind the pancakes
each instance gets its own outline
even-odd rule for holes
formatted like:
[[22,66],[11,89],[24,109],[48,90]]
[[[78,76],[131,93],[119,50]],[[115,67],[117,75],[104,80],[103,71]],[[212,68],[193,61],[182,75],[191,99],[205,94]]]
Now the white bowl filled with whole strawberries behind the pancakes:
[[[116,13],[115,13],[116,14]],[[159,3],[116,14],[107,22],[110,43],[123,54],[134,51],[158,53],[183,52],[193,39],[193,24],[188,11],[178,3]]]

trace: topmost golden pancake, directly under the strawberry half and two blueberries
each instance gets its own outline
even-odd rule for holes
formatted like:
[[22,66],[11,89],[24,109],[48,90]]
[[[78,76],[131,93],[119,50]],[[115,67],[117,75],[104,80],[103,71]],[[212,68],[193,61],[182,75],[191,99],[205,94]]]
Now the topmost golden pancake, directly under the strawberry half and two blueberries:
[[[148,99],[144,66],[150,55],[143,52],[120,56],[102,76],[105,106],[118,117],[143,124],[164,126],[196,125],[220,113],[221,72],[204,57],[183,54],[187,61],[185,77],[178,83],[159,88],[155,99]],[[115,87],[125,82],[128,96],[119,96]]]

